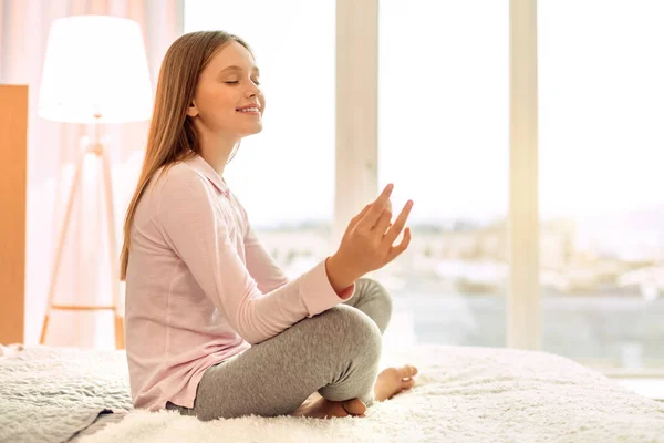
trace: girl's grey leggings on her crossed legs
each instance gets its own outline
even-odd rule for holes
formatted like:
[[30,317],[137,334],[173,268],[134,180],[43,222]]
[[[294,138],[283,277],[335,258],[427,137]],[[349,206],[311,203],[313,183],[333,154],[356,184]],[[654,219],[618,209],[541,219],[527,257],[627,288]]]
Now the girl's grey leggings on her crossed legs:
[[332,401],[357,398],[369,406],[391,315],[387,290],[361,278],[349,301],[208,368],[194,408],[167,402],[166,409],[201,421],[288,415],[315,391]]

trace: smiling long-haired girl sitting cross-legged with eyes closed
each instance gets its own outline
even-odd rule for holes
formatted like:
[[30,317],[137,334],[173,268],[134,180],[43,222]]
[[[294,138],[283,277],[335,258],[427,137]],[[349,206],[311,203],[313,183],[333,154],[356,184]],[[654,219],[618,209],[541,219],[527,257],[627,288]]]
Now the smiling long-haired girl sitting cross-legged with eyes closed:
[[393,244],[413,203],[392,225],[387,186],[334,255],[289,281],[224,179],[262,130],[258,79],[247,43],[221,31],[185,34],[164,58],[121,256],[134,405],[204,421],[363,416],[414,383],[409,365],[377,374],[391,299],[361,278],[406,249],[408,228]]

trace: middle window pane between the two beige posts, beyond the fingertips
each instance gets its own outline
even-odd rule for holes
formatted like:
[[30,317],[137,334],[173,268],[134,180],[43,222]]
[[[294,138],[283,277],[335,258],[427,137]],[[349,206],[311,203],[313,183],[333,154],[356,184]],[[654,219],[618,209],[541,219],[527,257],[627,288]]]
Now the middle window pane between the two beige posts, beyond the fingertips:
[[413,241],[378,278],[400,343],[505,346],[509,2],[380,3],[380,157]]

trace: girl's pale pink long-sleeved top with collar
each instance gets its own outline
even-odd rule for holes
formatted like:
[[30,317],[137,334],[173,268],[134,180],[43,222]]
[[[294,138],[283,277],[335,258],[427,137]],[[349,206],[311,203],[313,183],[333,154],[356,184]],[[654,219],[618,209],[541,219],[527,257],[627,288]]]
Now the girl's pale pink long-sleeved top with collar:
[[155,175],[132,225],[126,351],[135,408],[193,408],[210,365],[353,296],[325,261],[289,281],[200,156]]

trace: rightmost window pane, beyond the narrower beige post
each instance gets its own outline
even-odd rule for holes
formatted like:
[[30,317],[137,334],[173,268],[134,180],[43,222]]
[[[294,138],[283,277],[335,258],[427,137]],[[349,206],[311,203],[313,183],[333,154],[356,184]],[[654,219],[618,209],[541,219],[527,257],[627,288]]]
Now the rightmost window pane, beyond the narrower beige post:
[[539,2],[544,350],[664,367],[664,2]]

